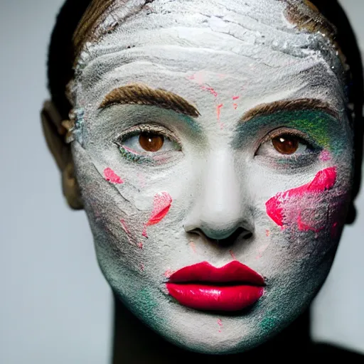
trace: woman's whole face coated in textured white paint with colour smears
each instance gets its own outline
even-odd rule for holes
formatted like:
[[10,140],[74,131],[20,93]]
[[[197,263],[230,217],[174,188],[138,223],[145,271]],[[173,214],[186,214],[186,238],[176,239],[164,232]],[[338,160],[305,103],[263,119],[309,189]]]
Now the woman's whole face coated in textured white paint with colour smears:
[[[72,85],[97,259],[168,341],[242,352],[291,323],[331,267],[353,178],[343,68],[327,37],[287,21],[282,1],[144,2],[105,19],[113,29],[85,44]],[[105,102],[126,85],[114,97],[137,101]],[[186,102],[152,100],[146,87]],[[173,272],[206,262],[213,272],[183,283],[175,274],[168,289]],[[231,262],[264,284],[245,277],[253,291],[222,298],[239,280],[223,282],[218,268]]]

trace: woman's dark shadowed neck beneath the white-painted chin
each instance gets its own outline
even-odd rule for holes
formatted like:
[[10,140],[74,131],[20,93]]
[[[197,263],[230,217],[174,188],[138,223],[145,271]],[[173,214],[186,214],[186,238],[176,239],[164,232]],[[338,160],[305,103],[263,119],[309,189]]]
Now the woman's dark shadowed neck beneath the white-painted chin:
[[[224,355],[223,363],[240,363],[241,360],[257,358],[282,358],[292,350],[306,352],[311,343],[309,338],[309,311],[306,311],[282,333],[259,348],[247,353]],[[288,350],[287,350],[288,349]],[[296,350],[295,350],[296,349]],[[112,364],[121,363],[178,363],[184,360],[207,359],[209,364],[221,363],[220,355],[192,353],[168,343],[146,327],[114,296],[114,343]],[[186,361],[186,363],[188,363]]]

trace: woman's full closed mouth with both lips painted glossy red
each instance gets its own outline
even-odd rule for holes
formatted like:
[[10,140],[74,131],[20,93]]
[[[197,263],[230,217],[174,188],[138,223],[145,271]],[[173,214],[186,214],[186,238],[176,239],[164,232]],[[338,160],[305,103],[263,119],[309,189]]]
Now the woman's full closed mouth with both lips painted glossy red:
[[202,311],[240,311],[264,293],[264,278],[236,260],[223,267],[200,262],[171,274],[166,287],[181,305]]

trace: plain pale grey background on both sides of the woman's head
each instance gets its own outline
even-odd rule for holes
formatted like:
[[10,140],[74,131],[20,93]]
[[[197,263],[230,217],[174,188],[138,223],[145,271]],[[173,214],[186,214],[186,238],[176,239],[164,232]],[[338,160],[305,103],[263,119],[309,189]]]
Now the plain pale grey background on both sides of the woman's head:
[[[77,1],[77,0],[75,0]],[[71,212],[39,112],[63,0],[0,5],[0,363],[108,363],[112,299],[85,213]],[[364,50],[364,1],[345,0]],[[364,353],[364,193],[314,305],[313,336]]]

